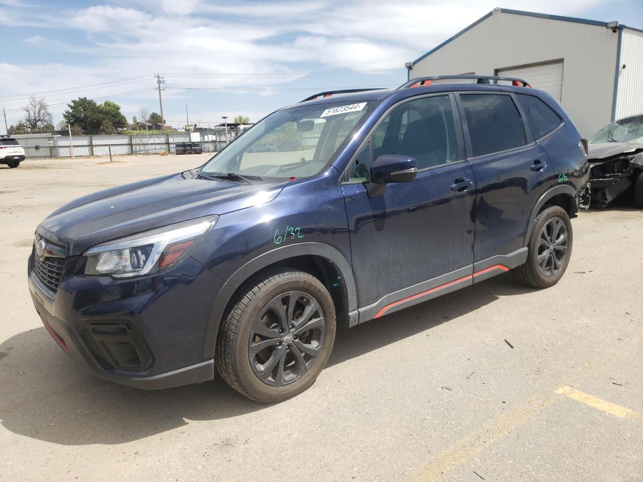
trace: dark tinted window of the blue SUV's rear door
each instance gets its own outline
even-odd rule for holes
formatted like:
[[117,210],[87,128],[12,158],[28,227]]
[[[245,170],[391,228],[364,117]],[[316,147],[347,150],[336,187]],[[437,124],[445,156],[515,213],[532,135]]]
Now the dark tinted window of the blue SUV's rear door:
[[525,126],[508,95],[462,94],[473,157],[527,145]]

